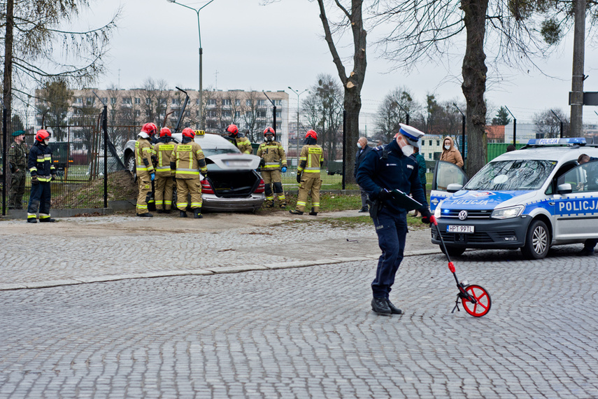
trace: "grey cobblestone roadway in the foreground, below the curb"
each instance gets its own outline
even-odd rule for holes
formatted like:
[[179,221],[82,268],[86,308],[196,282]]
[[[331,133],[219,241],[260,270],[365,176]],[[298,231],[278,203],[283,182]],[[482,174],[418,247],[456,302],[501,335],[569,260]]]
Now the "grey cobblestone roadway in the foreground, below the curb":
[[[574,247],[574,249],[578,249]],[[0,398],[596,398],[595,258],[474,251],[483,318],[451,314],[440,254],[0,292]]]

